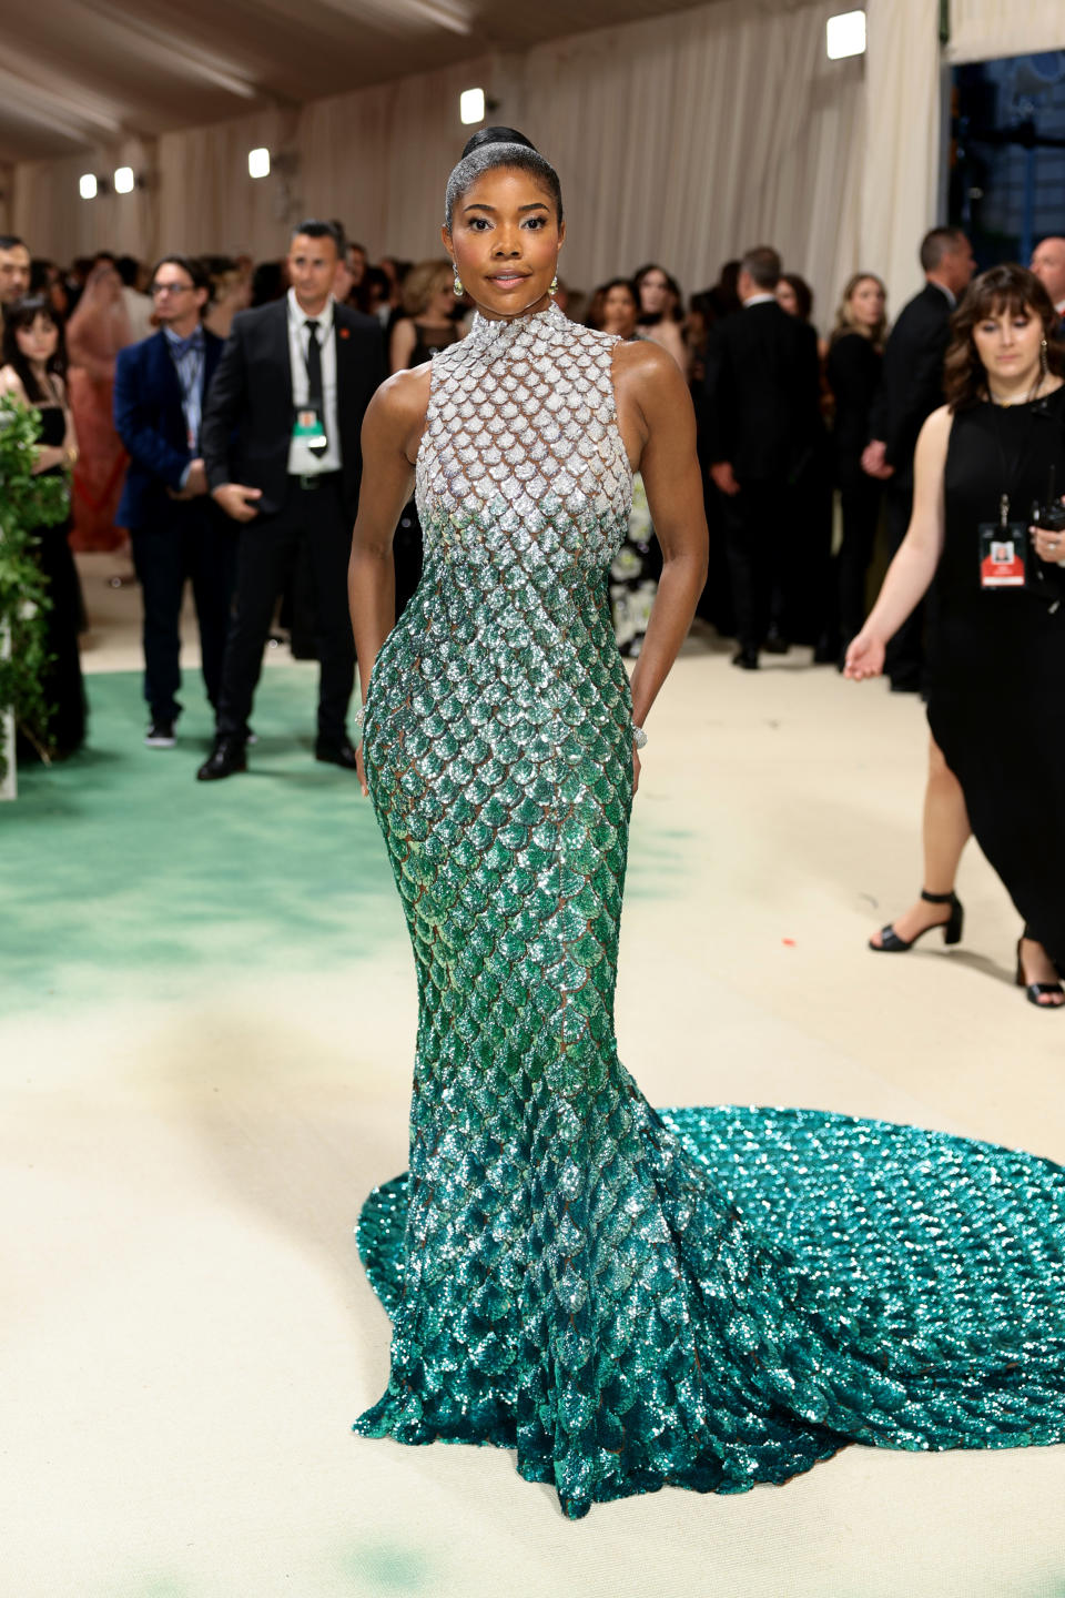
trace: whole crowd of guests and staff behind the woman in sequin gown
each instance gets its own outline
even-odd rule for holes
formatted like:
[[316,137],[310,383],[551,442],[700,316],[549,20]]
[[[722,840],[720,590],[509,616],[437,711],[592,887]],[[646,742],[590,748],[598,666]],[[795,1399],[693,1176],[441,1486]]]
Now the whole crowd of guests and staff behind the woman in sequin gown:
[[[932,229],[920,260],[924,286],[894,326],[881,280],[859,272],[827,337],[810,286],[770,246],[726,262],[687,305],[655,262],[588,296],[559,281],[556,302],[659,344],[685,374],[712,539],[703,609],[736,639],[734,665],[757,670],[763,652],[800,642],[814,663],[856,679],[883,668],[893,690],[929,700],[924,887],[872,948],[902,952],[937,927],[948,943],[961,936],[955,874],[976,833],[1025,916],[1017,981],[1060,1008],[1065,238],[972,289],[960,230]],[[198,777],[246,767],[278,626],[321,663],[316,757],[354,770],[345,574],[359,430],[388,371],[463,337],[473,307],[450,262],[372,265],[334,222],[300,224],[283,262],[171,254],[150,273],[109,252],[64,272],[0,238],[0,392],[40,411],[37,470],[72,478],[70,521],[38,529],[56,753],[85,735],[70,548],[128,539],[144,599],[145,741],[176,743],[192,582],[216,711]],[[893,559],[877,598],[880,526]],[[412,502],[394,540],[398,612],[420,567]],[[659,569],[637,478],[608,578],[626,654],[639,654]],[[990,609],[987,591],[998,593]]]

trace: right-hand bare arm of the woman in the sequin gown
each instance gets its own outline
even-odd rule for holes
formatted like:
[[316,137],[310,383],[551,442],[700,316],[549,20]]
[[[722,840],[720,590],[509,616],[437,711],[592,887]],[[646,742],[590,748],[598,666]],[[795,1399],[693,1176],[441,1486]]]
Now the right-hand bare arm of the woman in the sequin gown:
[[[648,342],[615,348],[618,420],[643,475],[663,575],[632,673],[632,719],[650,711],[683,644],[706,583],[707,531],[691,395],[672,356]],[[639,767],[637,767],[639,769]]]

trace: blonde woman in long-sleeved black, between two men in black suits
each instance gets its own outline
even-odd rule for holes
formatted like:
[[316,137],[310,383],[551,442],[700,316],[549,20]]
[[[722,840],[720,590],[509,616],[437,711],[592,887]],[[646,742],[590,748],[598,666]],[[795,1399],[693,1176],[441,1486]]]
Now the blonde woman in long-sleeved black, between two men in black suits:
[[825,366],[835,414],[832,463],[843,518],[843,542],[835,558],[843,654],[865,622],[865,578],[880,519],[883,484],[862,471],[862,451],[872,438],[869,415],[880,387],[888,329],[885,305],[880,278],[857,272],[843,289]]

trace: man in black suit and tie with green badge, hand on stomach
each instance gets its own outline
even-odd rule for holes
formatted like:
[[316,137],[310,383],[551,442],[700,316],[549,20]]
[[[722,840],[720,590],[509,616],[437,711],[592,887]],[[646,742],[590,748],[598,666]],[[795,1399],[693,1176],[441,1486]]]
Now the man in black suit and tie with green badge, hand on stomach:
[[297,561],[311,578],[321,662],[315,756],[354,770],[345,725],[354,686],[346,570],[359,431],[385,377],[385,348],[375,320],[332,297],[340,249],[331,222],[295,229],[287,296],[233,320],[211,385],[203,423],[208,483],[243,527],[217,732],[196,773],[201,781],[246,769],[262,652]]

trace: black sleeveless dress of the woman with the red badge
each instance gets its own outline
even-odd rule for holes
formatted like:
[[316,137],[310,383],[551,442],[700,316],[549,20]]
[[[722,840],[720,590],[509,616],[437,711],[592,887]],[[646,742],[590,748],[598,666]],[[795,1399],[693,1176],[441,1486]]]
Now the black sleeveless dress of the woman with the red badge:
[[[928,721],[964,791],[976,839],[1009,896],[1065,967],[1065,570],[1046,598],[980,588],[980,523],[1031,519],[1051,465],[1065,491],[1065,388],[1023,406],[955,415],[945,468],[945,545]],[[1062,602],[1057,602],[1060,596]]]

